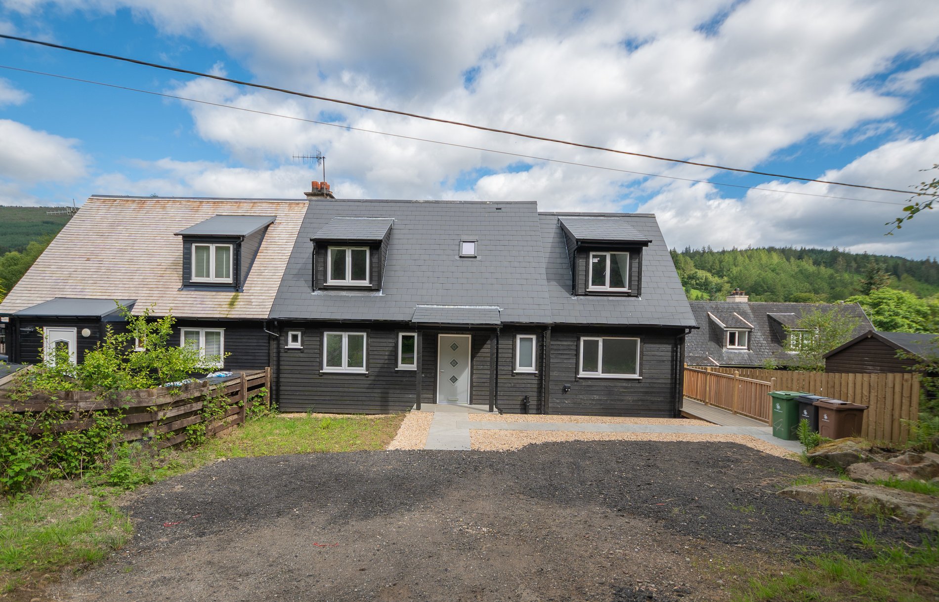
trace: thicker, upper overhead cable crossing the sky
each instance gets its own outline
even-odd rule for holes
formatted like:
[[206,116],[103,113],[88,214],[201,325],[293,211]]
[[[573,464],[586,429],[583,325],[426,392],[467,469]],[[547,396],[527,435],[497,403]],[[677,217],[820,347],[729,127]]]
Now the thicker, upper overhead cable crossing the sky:
[[[95,52],[95,51],[89,51],[89,50],[85,50],[85,49],[82,49],[82,48],[73,48],[73,47],[71,47],[71,46],[63,46],[63,45],[61,45],[61,44],[54,44],[54,43],[52,43],[52,42],[44,42],[44,41],[41,41],[41,40],[38,40],[38,39],[20,38],[20,37],[18,37],[18,36],[9,36],[9,35],[7,35],[7,34],[0,34],[0,38],[3,38],[3,39],[12,39],[12,40],[19,41],[19,42],[24,42],[24,43],[27,43],[27,44],[36,44],[36,45],[38,45],[38,46],[46,46],[46,47],[48,47],[48,48],[54,48],[54,49],[57,49],[57,50],[69,51],[70,53],[82,53],[82,54],[88,54],[88,55],[90,55],[90,56],[100,56],[100,57],[102,57],[102,58],[109,58],[109,59],[113,59],[113,60],[115,60],[115,61],[123,61],[123,62],[125,62],[125,63],[132,63],[132,64],[134,64],[134,65],[143,65],[143,66],[145,66],[145,67],[152,67],[152,68],[158,68],[158,69],[165,69],[165,70],[168,70],[168,71],[175,71],[175,72],[177,72],[177,73],[186,73],[187,75],[194,75],[194,76],[197,76],[197,77],[209,78],[209,79],[212,79],[212,80],[218,80],[218,81],[220,81],[220,82],[235,83],[235,84],[238,84],[238,85],[243,85],[243,86],[248,86],[248,87],[253,87],[253,88],[259,88],[259,89],[262,89],[262,90],[270,90],[270,91],[273,91],[273,92],[280,92],[280,93],[283,93],[283,94],[289,94],[289,95],[292,95],[292,96],[298,96],[298,97],[302,97],[302,98],[313,98],[313,99],[315,99],[315,100],[323,100],[323,101],[325,101],[325,102],[333,102],[333,103],[337,103],[337,104],[344,104],[344,105],[347,105],[347,106],[350,106],[350,107],[357,107],[357,108],[360,108],[360,109],[366,109],[366,110],[368,110],[368,111],[377,111],[377,112],[381,112],[381,113],[392,113],[392,114],[396,114],[396,115],[403,115],[403,116],[406,116],[406,117],[413,117],[414,119],[423,119],[424,121],[433,121],[433,122],[437,122],[437,123],[448,124],[448,125],[451,125],[451,126],[459,126],[459,127],[462,127],[462,128],[480,129],[480,130],[483,130],[483,131],[491,131],[491,132],[496,132],[496,133],[500,133],[500,134],[506,134],[506,135],[509,135],[509,136],[516,136],[516,137],[519,137],[519,138],[527,138],[527,139],[529,139],[529,140],[538,140],[538,141],[547,142],[547,143],[566,144],[566,145],[568,145],[568,146],[577,146],[577,147],[579,147],[579,148],[588,148],[588,149],[591,149],[591,150],[599,150],[599,151],[604,151],[604,152],[608,152],[608,153],[617,153],[617,154],[619,154],[619,155],[628,155],[628,156],[630,156],[630,157],[652,158],[652,159],[655,159],[655,160],[658,160],[658,161],[668,161],[668,162],[670,162],[670,163],[681,163],[681,164],[684,164],[684,165],[695,165],[695,166],[698,166],[698,167],[707,167],[707,168],[711,168],[711,169],[722,170],[722,171],[725,171],[725,172],[752,173],[752,174],[754,174],[754,175],[765,175],[765,176],[768,176],[768,177],[783,178],[783,179],[787,179],[787,180],[798,180],[798,181],[802,181],[802,182],[817,182],[817,183],[819,183],[819,184],[830,184],[830,185],[833,185],[833,186],[844,186],[844,187],[850,187],[850,188],[866,188],[866,189],[869,189],[869,190],[881,190],[881,191],[884,191],[884,192],[899,192],[899,193],[901,193],[901,194],[907,194],[907,195],[909,195],[909,194],[914,194],[914,193],[911,192],[910,190],[901,190],[901,189],[898,189],[898,188],[880,188],[880,187],[875,187],[875,186],[866,186],[866,185],[863,185],[863,184],[850,184],[850,183],[847,183],[847,182],[835,182],[835,181],[831,181],[831,180],[819,180],[819,179],[815,179],[815,178],[801,177],[801,176],[797,176],[797,175],[786,175],[786,174],[783,174],[783,173],[758,172],[758,171],[754,171],[754,170],[746,170],[746,169],[741,169],[741,168],[736,168],[736,167],[726,167],[726,166],[715,165],[715,164],[711,164],[711,163],[701,163],[701,162],[699,162],[699,161],[689,161],[689,160],[685,160],[685,159],[681,159],[681,158],[668,158],[668,157],[659,157],[659,156],[656,156],[656,155],[649,155],[649,154],[647,154],[647,153],[635,153],[635,152],[624,151],[624,150],[619,150],[619,149],[615,149],[615,148],[608,148],[608,147],[606,147],[606,146],[597,146],[597,145],[594,145],[594,144],[575,143],[575,142],[570,142],[570,141],[566,141],[566,140],[560,140],[560,139],[557,139],[557,138],[548,138],[548,137],[546,137],[546,136],[537,136],[537,135],[535,135],[535,134],[526,134],[526,133],[522,133],[522,132],[516,132],[516,131],[509,130],[509,129],[489,128],[489,127],[486,127],[486,126],[478,126],[478,125],[475,125],[475,124],[465,123],[465,122],[462,122],[462,121],[454,121],[454,120],[451,120],[451,119],[441,119],[441,118],[439,118],[439,117],[431,117],[431,116],[429,116],[429,115],[422,115],[422,114],[419,114],[419,113],[408,113],[408,112],[405,112],[405,111],[397,111],[397,110],[395,110],[395,109],[387,109],[387,108],[384,108],[384,107],[376,107],[376,106],[372,106],[372,105],[362,104],[361,102],[354,102],[354,101],[351,101],[351,100],[343,100],[343,99],[340,99],[340,98],[321,97],[321,96],[317,96],[317,95],[314,95],[314,94],[306,94],[305,92],[298,92],[298,91],[296,91],[296,90],[289,90],[289,89],[287,89],[287,88],[280,88],[280,87],[277,87],[277,86],[267,85],[267,84],[263,84],[263,83],[243,82],[243,81],[241,81],[241,80],[235,80],[235,79],[232,79],[232,78],[223,77],[223,76],[221,76],[221,75],[213,75],[213,74],[211,74],[211,73],[203,73],[203,72],[201,72],[201,71],[193,71],[193,70],[191,70],[191,69],[184,69],[184,68],[171,67],[171,66],[169,66],[169,65],[162,65],[162,64],[160,64],[160,63],[149,63],[149,62],[147,62],[147,61],[141,61],[141,60],[138,60],[138,59],[135,59],[135,58],[130,58],[130,57],[127,57],[127,56],[120,56],[120,55],[117,55],[117,54],[98,53],[98,52]],[[939,194],[926,194],[925,196],[939,196]]]

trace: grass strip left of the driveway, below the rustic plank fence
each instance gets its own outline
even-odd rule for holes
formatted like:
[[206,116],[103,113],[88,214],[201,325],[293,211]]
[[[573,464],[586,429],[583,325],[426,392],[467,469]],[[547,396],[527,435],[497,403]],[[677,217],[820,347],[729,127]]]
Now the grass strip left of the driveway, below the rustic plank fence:
[[262,416],[194,449],[171,450],[152,460],[136,450],[118,458],[106,474],[53,481],[29,495],[0,498],[0,595],[35,590],[64,568],[96,563],[119,549],[132,533],[131,520],[116,506],[123,489],[222,458],[384,449],[403,420],[404,414]]

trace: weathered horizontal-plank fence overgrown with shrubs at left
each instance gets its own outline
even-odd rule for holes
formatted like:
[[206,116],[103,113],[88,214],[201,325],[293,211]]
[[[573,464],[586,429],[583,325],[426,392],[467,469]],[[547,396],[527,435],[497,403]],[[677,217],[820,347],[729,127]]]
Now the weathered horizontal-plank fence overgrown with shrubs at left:
[[[56,410],[71,412],[71,420],[56,426],[56,430],[84,430],[93,422],[89,411],[121,413],[126,426],[125,441],[141,441],[145,437],[159,436],[159,447],[169,447],[189,438],[186,427],[203,421],[201,414],[206,399],[222,394],[226,399],[223,414],[206,426],[206,436],[219,435],[244,422],[252,397],[261,388],[270,391],[270,369],[236,374],[214,383],[196,382],[178,388],[157,387],[121,391],[108,399],[90,391],[63,391],[54,398],[35,396],[24,401],[0,397],[0,406],[13,412],[41,412],[54,404]],[[269,396],[265,403],[270,403]]]

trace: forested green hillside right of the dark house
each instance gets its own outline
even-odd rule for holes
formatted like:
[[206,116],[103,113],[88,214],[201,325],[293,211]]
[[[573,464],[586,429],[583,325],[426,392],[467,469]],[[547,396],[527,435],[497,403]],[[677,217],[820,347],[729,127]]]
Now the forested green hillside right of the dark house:
[[890,288],[929,297],[939,293],[939,262],[832,248],[746,248],[671,251],[689,299],[723,299],[734,288],[752,301],[838,301],[862,291],[876,272]]

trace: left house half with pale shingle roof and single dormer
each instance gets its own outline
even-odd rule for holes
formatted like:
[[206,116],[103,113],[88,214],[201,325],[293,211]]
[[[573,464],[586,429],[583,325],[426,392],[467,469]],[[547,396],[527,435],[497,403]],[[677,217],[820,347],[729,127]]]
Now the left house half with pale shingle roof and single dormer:
[[268,366],[264,324],[306,205],[91,197],[0,303],[9,360],[37,363],[61,347],[80,361],[108,327],[124,327],[121,306],[172,312],[173,342],[219,368]]

